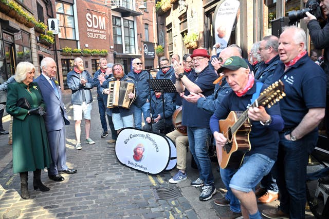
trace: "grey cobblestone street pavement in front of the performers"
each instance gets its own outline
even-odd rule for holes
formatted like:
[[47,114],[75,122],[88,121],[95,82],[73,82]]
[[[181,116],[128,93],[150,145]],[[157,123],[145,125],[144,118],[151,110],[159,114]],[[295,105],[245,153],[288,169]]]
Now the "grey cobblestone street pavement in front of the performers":
[[[93,90],[96,96],[95,89]],[[66,126],[67,165],[76,168],[75,174],[63,174],[65,181],[51,181],[46,172],[42,172],[42,182],[50,188],[48,192],[34,191],[32,172],[29,172],[29,192],[31,198],[23,200],[20,196],[19,174],[12,173],[11,146],[8,136],[0,136],[0,218],[218,218],[229,207],[214,205],[215,198],[222,197],[220,188],[224,188],[218,166],[213,163],[213,173],[217,194],[207,202],[200,202],[200,188],[190,186],[198,177],[191,168],[188,155],[188,180],[179,184],[169,184],[168,180],[176,170],[147,175],[121,165],[115,155],[114,144],[107,144],[110,136],[101,138],[102,128],[99,120],[97,100],[94,98],[92,128],[90,137],[94,145],[84,143],[84,122],[81,127],[82,150],[75,150],[74,121],[70,106],[70,92],[63,94],[64,103],[71,124]],[[8,130],[9,121],[4,123]],[[157,188],[177,188],[176,197],[168,200],[157,199]],[[223,191],[222,191],[223,192]],[[260,209],[274,208],[259,205]],[[312,216],[308,218],[314,218]]]

